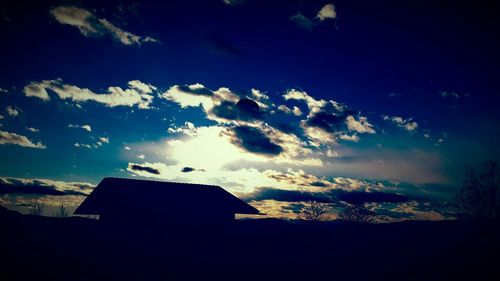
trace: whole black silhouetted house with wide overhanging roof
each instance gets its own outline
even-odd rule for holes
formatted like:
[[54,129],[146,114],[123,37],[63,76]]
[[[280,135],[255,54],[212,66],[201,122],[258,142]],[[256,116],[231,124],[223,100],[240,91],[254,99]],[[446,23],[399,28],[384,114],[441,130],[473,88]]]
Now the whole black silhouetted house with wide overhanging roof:
[[124,224],[203,224],[259,214],[220,186],[105,178],[75,210]]

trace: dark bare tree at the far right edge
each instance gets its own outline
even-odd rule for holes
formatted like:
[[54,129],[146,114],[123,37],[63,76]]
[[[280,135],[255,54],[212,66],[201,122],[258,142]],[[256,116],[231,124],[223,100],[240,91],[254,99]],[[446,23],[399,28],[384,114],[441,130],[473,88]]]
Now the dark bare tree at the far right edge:
[[456,196],[457,214],[465,219],[498,219],[500,215],[500,168],[496,162],[484,164],[477,175],[470,169]]

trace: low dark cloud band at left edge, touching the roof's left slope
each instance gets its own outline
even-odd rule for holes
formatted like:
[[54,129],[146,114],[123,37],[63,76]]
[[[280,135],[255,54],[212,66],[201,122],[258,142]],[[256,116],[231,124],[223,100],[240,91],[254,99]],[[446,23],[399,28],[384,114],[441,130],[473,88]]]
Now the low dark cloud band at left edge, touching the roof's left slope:
[[93,189],[94,185],[86,182],[0,177],[0,194],[86,196],[90,194]]

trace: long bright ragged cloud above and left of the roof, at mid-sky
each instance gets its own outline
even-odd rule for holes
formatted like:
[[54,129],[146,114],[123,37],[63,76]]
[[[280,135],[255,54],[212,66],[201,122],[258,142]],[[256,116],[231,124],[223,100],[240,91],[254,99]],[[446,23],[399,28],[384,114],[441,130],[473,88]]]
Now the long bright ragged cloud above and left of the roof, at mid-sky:
[[47,90],[54,92],[62,100],[72,100],[75,103],[94,101],[107,107],[137,105],[140,109],[150,109],[156,88],[138,80],[128,82],[128,88],[109,87],[107,94],[96,94],[87,88],[63,84],[61,79],[31,82],[24,87],[27,97],[37,97],[44,101],[50,100]]

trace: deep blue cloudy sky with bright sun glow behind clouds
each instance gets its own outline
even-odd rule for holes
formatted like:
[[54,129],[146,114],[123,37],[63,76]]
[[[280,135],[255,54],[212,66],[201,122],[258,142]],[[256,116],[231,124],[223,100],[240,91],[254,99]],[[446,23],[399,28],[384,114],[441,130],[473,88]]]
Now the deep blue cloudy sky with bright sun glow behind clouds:
[[[4,3],[5,2],[5,3]],[[498,161],[485,1],[4,1],[0,205],[105,177],[216,184],[266,213],[356,198],[442,220]]]

